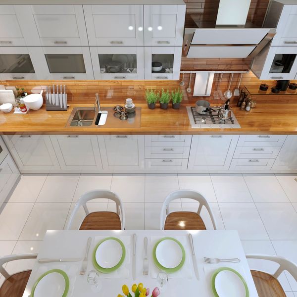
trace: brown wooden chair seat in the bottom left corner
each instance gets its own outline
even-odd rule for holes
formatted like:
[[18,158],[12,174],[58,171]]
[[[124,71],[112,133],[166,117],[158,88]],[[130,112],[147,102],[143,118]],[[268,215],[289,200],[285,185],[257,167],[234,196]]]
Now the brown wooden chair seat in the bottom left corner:
[[22,297],[30,274],[31,270],[11,275],[1,286],[0,297]]

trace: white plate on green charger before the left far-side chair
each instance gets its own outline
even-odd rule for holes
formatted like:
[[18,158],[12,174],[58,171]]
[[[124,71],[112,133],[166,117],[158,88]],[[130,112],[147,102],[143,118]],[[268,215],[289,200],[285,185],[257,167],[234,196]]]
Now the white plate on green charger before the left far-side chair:
[[113,239],[103,241],[96,250],[96,262],[102,268],[114,267],[122,258],[122,246]]

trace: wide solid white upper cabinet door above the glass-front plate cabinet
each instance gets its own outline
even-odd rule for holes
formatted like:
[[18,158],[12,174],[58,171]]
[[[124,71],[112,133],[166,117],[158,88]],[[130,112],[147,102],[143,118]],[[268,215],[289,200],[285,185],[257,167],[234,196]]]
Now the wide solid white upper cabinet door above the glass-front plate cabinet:
[[83,5],[90,46],[143,46],[143,5]]

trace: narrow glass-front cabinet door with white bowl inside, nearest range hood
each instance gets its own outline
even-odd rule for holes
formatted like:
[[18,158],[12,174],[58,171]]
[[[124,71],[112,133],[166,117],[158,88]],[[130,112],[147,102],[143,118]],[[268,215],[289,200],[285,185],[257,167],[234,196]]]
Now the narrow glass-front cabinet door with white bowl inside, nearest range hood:
[[145,79],[179,79],[182,47],[145,47]]

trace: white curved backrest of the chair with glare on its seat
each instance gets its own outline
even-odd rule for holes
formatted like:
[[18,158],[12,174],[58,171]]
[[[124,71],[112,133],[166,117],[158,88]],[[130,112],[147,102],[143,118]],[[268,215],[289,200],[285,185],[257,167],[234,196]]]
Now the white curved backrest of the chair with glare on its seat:
[[161,215],[160,215],[160,230],[164,230],[166,217],[170,213],[169,203],[175,199],[181,199],[181,198],[188,198],[188,199],[193,199],[193,200],[198,201],[199,202],[198,211],[197,211],[198,215],[200,215],[201,209],[204,206],[210,216],[210,219],[211,219],[211,222],[213,225],[213,229],[214,230],[217,229],[216,220],[212,213],[212,210],[211,210],[208,202],[206,201],[206,199],[200,193],[198,193],[197,191],[194,191],[194,190],[177,190],[177,191],[170,193],[166,197],[165,201],[163,202],[162,209],[161,209]]

